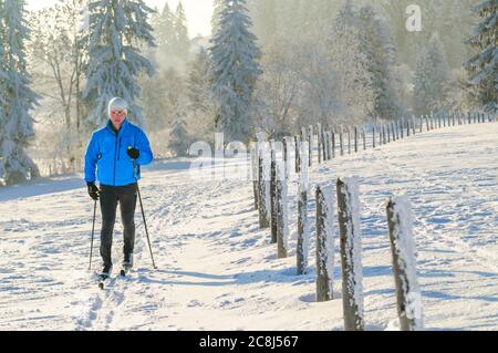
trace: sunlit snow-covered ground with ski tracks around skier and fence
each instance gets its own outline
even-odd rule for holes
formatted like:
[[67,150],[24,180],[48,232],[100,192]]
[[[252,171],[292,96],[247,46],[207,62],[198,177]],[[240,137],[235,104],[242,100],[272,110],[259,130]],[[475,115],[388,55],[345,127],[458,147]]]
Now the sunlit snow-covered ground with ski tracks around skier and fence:
[[[498,330],[497,136],[497,123],[449,127],[314,164],[312,185],[359,176],[367,330],[397,328],[392,194],[408,196],[416,219],[426,329]],[[292,251],[278,260],[269,231],[258,229],[251,185],[194,181],[187,168],[164,162],[143,173],[159,269],[151,270],[137,208],[137,270],[105,291],[87,271],[93,204],[81,180],[0,189],[0,330],[343,330],[340,257],[333,301],[314,300],[314,251],[309,274],[295,276],[295,176]],[[116,264],[121,247],[117,225]]]

